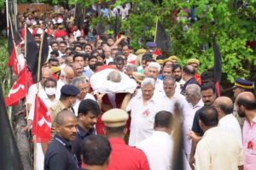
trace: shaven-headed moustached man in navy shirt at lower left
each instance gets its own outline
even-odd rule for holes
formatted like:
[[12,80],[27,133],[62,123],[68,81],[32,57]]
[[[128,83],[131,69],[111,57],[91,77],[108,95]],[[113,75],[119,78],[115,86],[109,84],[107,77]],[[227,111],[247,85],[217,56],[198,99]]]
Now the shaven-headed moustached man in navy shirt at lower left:
[[73,154],[71,141],[76,138],[77,118],[63,110],[55,116],[56,134],[44,157],[44,170],[79,170],[79,162]]

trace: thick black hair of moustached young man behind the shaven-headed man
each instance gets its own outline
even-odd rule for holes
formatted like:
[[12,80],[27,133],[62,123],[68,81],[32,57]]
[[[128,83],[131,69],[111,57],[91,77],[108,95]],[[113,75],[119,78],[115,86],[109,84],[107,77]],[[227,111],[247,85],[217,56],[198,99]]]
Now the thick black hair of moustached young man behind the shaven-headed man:
[[79,105],[79,114],[87,115],[88,113],[93,114],[95,116],[99,116],[101,113],[100,107],[96,101],[92,99],[84,99],[81,101]]

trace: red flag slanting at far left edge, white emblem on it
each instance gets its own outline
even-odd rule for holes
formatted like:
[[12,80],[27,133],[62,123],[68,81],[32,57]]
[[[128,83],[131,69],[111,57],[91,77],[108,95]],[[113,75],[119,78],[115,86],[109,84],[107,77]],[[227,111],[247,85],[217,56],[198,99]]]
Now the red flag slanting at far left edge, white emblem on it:
[[20,71],[17,81],[10,89],[9,94],[5,97],[6,106],[17,105],[20,99],[24,98],[27,93],[26,67]]

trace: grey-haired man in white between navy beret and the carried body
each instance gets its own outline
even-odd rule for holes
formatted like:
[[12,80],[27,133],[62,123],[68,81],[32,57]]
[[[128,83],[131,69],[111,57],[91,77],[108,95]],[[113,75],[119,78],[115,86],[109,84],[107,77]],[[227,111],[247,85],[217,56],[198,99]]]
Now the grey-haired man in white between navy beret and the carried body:
[[87,93],[88,91],[88,82],[80,77],[73,79],[72,85],[79,88],[80,93],[77,96],[76,103],[73,105],[73,111],[76,116],[78,116],[79,105],[83,99],[92,99],[96,101],[95,97],[92,94]]

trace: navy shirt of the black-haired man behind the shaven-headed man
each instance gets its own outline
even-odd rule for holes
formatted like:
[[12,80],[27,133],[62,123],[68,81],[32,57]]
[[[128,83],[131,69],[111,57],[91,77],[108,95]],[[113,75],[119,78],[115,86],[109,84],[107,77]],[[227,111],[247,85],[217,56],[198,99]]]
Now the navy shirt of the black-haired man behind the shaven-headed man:
[[95,128],[91,128],[90,131],[85,130],[84,128],[78,126],[78,133],[76,139],[72,143],[72,149],[75,156],[77,156],[79,161],[79,167],[82,165],[81,155],[82,155],[82,144],[86,137],[91,134],[96,134]]

